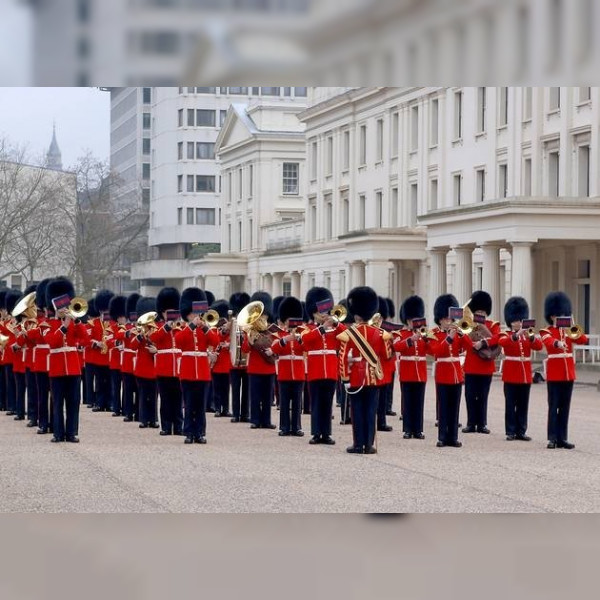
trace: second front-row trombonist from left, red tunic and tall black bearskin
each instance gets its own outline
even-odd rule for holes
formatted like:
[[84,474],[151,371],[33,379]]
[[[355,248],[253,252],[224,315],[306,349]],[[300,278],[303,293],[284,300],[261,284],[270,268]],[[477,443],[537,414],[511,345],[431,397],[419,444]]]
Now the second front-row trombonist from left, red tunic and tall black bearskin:
[[195,287],[183,290],[179,311],[187,325],[175,334],[175,342],[181,350],[179,378],[185,407],[184,442],[206,444],[206,387],[211,379],[208,348],[217,346],[219,334],[204,323],[199,311],[194,311],[195,303],[207,305],[206,294]]

